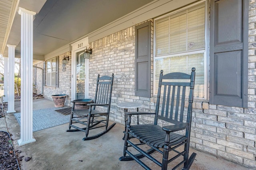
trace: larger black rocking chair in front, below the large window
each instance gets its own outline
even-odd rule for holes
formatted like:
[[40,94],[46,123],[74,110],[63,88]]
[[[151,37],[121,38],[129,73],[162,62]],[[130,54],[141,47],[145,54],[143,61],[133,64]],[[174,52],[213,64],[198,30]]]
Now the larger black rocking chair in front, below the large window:
[[[166,170],[168,163],[180,156],[184,156],[184,158],[180,160],[181,162],[175,163],[175,165],[172,165],[172,168],[176,169],[182,164],[184,164],[184,170],[190,168],[196,157],[196,153],[192,153],[190,158],[188,158],[195,70],[195,68],[192,68],[191,75],[181,72],[163,75],[163,71],[161,70],[155,113],[125,113],[128,115],[128,122],[124,139],[124,156],[120,157],[119,160],[135,160],[143,168],[150,170],[150,167],[140,160],[140,158],[146,156],[160,166],[162,170]],[[185,99],[186,87],[190,87],[188,100]],[[161,88],[163,89],[161,90]],[[186,102],[188,102],[187,105],[185,104]],[[187,111],[185,106],[188,107]],[[137,114],[154,114],[154,124],[130,125],[131,116]],[[157,125],[160,123],[158,121],[159,119],[164,125],[163,127]],[[181,131],[183,129],[184,131]],[[176,133],[177,131],[179,131],[179,133]],[[137,138],[139,142],[137,140],[134,141],[132,138]],[[151,149],[144,149],[144,144],[148,145]],[[128,147],[133,147],[139,153],[132,154],[131,150],[128,150]],[[183,150],[180,151],[178,148]],[[154,151],[158,151],[162,154],[162,162],[153,157],[155,153],[152,152]],[[168,156],[171,156],[169,155],[170,151],[173,151],[172,158],[168,158]],[[129,156],[126,156],[126,154]]]

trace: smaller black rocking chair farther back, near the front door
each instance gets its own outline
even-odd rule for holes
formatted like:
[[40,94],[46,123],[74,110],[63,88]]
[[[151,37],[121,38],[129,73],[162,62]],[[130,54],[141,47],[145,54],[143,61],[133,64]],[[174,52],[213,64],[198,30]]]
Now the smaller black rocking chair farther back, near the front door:
[[[88,103],[86,100],[74,100],[72,101],[73,106],[71,109],[69,129],[67,132],[83,131],[86,133],[86,137],[83,141],[98,138],[107,133],[116,123],[113,123],[108,127],[108,119],[110,114],[110,102],[112,94],[114,74],[112,76],[102,76],[98,74],[95,98],[93,103]],[[76,103],[86,102],[88,109],[75,109]],[[97,110],[95,109],[97,108]],[[100,108],[101,107],[101,108]],[[102,108],[106,107],[106,108]],[[100,110],[100,111],[99,111]],[[74,125],[79,123],[80,126]],[[71,129],[71,127],[75,129]],[[89,130],[105,127],[103,131],[92,136],[88,136]]]

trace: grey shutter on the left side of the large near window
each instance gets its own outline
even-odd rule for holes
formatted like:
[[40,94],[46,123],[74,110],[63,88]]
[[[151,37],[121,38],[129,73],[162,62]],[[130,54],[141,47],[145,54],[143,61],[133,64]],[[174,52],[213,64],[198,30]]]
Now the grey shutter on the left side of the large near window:
[[151,21],[135,26],[135,96],[150,98]]

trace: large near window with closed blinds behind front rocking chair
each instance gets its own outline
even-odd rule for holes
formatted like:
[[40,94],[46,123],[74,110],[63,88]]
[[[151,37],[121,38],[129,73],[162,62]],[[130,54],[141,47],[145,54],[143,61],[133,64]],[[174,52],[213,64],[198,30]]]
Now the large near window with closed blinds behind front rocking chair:
[[195,67],[194,97],[206,98],[205,6],[202,2],[155,20],[155,87],[160,70],[190,74]]

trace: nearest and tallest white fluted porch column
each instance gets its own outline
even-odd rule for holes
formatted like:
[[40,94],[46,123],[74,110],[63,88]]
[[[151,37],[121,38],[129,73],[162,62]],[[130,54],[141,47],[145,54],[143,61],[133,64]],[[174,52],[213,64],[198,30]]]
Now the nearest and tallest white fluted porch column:
[[36,12],[19,8],[21,15],[21,95],[20,139],[18,145],[35,142],[33,138],[33,16]]

